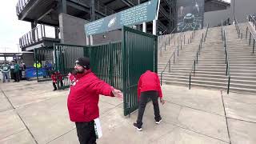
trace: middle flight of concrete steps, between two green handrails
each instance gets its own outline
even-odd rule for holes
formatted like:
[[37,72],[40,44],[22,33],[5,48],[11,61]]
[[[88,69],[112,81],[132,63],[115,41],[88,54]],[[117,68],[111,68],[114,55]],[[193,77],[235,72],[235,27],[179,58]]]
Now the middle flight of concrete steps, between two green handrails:
[[206,42],[202,44],[195,67],[195,74],[191,74],[191,87],[207,86],[226,90],[228,78],[221,27],[208,30]]

